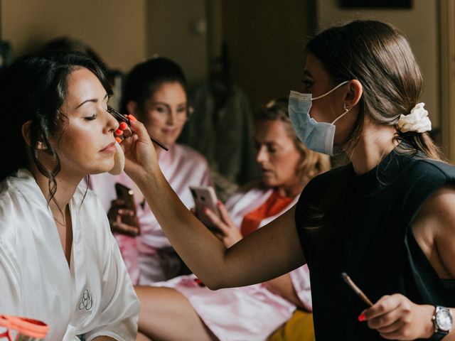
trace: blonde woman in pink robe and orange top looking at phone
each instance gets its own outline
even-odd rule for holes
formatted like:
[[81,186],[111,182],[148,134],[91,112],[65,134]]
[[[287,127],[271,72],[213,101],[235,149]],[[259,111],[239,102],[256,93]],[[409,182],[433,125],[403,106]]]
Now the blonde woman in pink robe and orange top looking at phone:
[[[220,219],[206,210],[227,247],[286,212],[304,185],[329,168],[328,156],[309,151],[296,138],[287,101],[268,104],[255,123],[262,181],[232,195],[225,206],[219,203]],[[296,308],[311,311],[309,283],[308,267],[301,266],[265,283],[218,291],[194,275],[137,286],[139,331],[154,340],[265,340]]]

